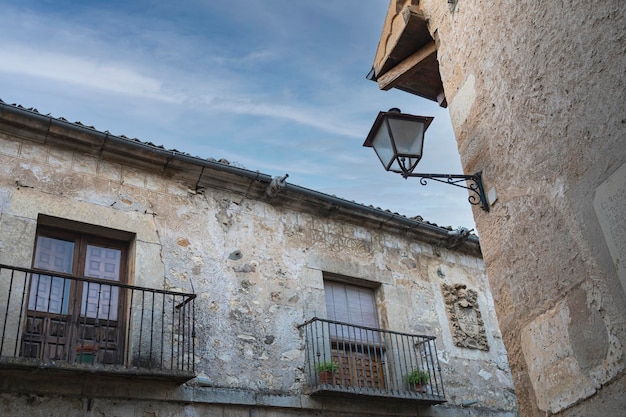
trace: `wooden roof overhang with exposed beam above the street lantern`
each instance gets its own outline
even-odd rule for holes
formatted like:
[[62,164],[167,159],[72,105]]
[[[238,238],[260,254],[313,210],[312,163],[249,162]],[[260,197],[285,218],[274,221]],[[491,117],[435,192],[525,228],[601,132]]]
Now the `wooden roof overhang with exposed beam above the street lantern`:
[[447,107],[437,46],[423,13],[411,3],[397,0],[389,5],[367,78],[376,81],[381,90],[397,88]]

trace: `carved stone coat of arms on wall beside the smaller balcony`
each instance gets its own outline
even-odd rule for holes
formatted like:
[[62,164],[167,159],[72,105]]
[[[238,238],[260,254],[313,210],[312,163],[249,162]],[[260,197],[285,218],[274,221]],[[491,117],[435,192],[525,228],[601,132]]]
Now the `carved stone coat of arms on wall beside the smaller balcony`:
[[464,284],[441,286],[446,312],[456,346],[489,350],[485,323],[478,308],[478,293]]

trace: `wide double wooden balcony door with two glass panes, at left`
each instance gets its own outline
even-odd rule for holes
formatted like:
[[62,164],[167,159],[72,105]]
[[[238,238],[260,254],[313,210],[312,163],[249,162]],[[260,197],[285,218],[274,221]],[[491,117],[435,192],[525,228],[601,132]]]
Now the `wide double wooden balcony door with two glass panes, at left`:
[[22,356],[120,363],[125,300],[106,281],[127,283],[127,254],[128,241],[40,226],[33,268],[50,274],[30,278]]

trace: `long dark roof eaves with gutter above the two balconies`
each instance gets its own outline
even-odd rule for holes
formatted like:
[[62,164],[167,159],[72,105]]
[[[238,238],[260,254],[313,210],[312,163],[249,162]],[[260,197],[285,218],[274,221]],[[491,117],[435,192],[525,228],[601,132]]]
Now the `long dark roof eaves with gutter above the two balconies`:
[[450,228],[398,213],[348,201],[295,184],[284,183],[278,195],[266,192],[272,176],[212,159],[203,159],[167,150],[151,143],[80,123],[43,115],[34,109],[9,105],[0,100],[0,132],[46,146],[72,149],[103,160],[158,172],[186,183],[194,192],[221,189],[275,207],[284,207],[350,223],[367,225],[442,248],[481,256],[478,237],[469,235],[462,242],[451,238]]

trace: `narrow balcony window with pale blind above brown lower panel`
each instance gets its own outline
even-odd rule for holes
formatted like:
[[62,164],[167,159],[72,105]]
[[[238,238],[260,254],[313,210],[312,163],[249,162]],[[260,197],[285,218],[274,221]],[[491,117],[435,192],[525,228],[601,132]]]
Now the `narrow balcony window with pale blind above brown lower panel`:
[[335,384],[384,388],[384,349],[378,329],[372,288],[324,281],[326,312],[330,324],[331,357],[339,365]]

